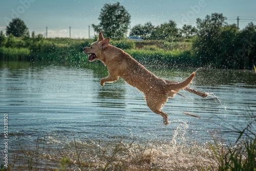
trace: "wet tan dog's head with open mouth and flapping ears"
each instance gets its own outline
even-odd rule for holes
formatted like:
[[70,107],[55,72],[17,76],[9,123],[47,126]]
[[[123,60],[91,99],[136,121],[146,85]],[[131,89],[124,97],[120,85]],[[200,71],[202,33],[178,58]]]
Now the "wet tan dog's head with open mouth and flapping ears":
[[109,45],[110,38],[103,37],[102,33],[99,33],[98,41],[95,41],[91,47],[83,48],[82,51],[84,54],[90,55],[88,60],[93,61],[95,59],[101,60],[101,53],[104,49],[106,49]]

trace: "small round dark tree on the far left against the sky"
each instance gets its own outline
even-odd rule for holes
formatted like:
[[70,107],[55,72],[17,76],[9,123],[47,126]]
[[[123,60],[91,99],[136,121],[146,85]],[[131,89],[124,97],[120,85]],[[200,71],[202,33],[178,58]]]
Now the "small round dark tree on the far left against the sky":
[[9,25],[6,27],[6,35],[12,35],[14,37],[23,37],[24,34],[28,31],[27,26],[23,20],[19,18],[13,18]]

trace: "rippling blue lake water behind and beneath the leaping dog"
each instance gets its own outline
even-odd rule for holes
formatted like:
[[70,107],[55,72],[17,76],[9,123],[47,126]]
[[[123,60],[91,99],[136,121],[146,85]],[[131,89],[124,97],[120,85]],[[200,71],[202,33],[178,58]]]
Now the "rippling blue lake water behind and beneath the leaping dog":
[[[256,111],[255,71],[200,69],[189,87],[209,96],[180,91],[186,98],[176,95],[163,108],[170,121],[165,126],[162,117],[147,107],[143,94],[121,78],[101,87],[100,79],[108,75],[102,63],[1,61],[0,68],[0,119],[3,128],[8,114],[10,160],[21,147],[34,149],[44,141],[55,149],[74,138],[189,145],[212,142],[214,137],[234,143],[239,135],[236,129],[242,130]],[[196,70],[146,68],[179,82]],[[3,143],[0,148],[4,149]]]

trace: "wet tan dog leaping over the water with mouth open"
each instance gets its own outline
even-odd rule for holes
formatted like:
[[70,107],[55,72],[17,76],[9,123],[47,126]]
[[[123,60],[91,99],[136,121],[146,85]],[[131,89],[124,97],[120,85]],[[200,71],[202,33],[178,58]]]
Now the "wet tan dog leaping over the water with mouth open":
[[89,55],[89,61],[98,59],[108,68],[109,75],[100,80],[100,85],[104,86],[105,82],[114,82],[121,77],[131,86],[144,93],[148,108],[161,115],[165,125],[169,124],[168,115],[162,112],[162,106],[169,97],[174,97],[183,89],[201,97],[207,97],[205,92],[187,88],[196,72],[180,83],[159,78],[123,50],[109,45],[109,42],[110,38],[104,39],[100,32],[98,41],[93,42],[91,47],[82,49],[84,54]]

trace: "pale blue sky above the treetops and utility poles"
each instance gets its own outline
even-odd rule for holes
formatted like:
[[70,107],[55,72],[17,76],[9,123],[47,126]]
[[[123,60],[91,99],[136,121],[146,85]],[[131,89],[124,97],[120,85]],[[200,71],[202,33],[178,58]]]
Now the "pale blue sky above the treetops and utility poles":
[[48,37],[88,38],[95,32],[92,24],[99,24],[104,4],[120,2],[131,15],[130,27],[151,22],[154,26],[174,20],[178,28],[196,26],[196,19],[211,13],[222,13],[228,24],[243,29],[248,23],[256,25],[255,0],[2,0],[0,5],[0,31],[5,32],[12,18],[22,19],[29,31]]

